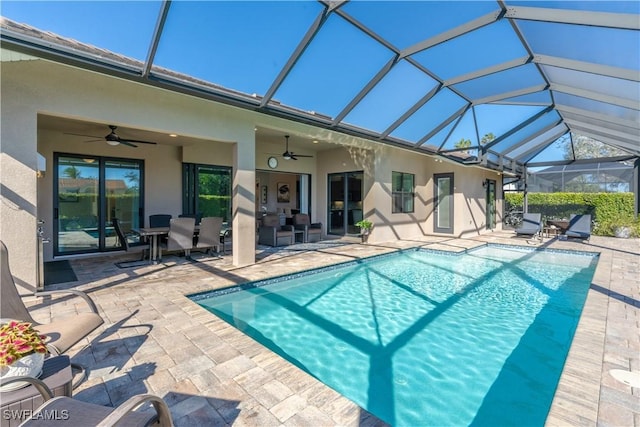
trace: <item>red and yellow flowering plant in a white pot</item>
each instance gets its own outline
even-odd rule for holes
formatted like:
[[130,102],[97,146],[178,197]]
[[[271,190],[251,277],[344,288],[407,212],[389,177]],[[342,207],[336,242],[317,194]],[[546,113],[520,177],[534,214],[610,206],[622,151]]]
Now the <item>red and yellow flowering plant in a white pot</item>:
[[[47,353],[46,336],[29,322],[10,320],[0,325],[0,378],[14,376],[37,377],[42,371]],[[27,383],[7,385],[14,388]],[[6,389],[3,388],[3,391]]]

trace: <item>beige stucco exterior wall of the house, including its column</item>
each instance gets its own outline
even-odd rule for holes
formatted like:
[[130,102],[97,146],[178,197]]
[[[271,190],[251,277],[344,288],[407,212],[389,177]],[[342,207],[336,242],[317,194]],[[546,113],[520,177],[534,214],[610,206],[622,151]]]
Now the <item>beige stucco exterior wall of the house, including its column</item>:
[[[314,221],[325,224],[325,232],[328,174],[363,171],[363,213],[375,224],[369,239],[373,243],[434,234],[434,173],[455,174],[455,236],[484,232],[482,180],[497,178],[500,188],[495,172],[434,162],[427,155],[45,60],[3,62],[1,84],[0,238],[9,247],[17,282],[28,290],[36,284],[37,219],[44,219],[46,237],[53,233],[54,152],[143,159],[146,217],[152,213],[181,213],[182,162],[232,167],[236,265],[255,261],[254,251],[247,248],[255,245],[255,211],[259,209],[255,205],[259,197],[256,170],[269,171],[267,159],[272,155],[280,160],[275,172],[311,176],[311,215]],[[182,147],[140,144],[135,149],[85,143],[39,126],[41,114],[178,133],[197,141]],[[313,158],[285,161],[280,157],[281,144],[256,141],[256,126],[282,130],[283,135],[314,135],[335,142],[336,148],[318,151]],[[43,178],[36,177],[38,152],[47,160]],[[415,175],[412,213],[391,213],[393,171]],[[498,199],[501,197],[498,194]],[[45,260],[52,259],[52,252],[52,247],[45,247]]]

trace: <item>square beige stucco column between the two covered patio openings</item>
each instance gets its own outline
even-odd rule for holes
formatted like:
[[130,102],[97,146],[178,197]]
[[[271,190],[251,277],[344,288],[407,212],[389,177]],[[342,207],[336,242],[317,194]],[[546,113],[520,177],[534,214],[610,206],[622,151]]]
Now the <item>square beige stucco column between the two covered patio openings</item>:
[[253,127],[233,150],[233,265],[256,262],[256,142]]

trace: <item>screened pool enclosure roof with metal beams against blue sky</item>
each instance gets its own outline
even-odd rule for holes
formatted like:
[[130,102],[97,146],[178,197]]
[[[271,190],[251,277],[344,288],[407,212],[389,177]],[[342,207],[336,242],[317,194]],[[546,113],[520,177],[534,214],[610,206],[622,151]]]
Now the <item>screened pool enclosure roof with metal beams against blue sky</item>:
[[[2,15],[3,52],[465,164],[640,156],[637,1],[4,1]],[[590,159],[585,138],[602,147]]]

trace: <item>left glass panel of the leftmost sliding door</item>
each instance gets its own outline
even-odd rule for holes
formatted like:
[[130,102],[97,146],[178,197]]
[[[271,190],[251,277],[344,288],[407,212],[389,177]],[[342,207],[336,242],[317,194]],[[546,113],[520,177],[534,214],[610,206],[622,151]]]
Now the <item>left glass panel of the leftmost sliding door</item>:
[[95,158],[58,157],[57,254],[91,252],[100,246],[99,162]]

